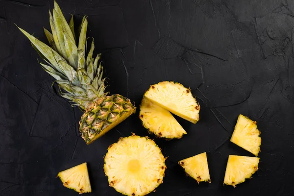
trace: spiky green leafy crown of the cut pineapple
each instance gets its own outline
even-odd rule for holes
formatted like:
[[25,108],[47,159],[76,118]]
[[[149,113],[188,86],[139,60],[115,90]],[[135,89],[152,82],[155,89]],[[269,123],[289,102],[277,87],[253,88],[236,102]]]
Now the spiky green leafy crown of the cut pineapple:
[[[50,46],[39,41],[24,29],[18,28],[48,64],[39,62],[42,68],[56,79],[60,95],[74,102],[73,106],[79,106],[82,110],[86,110],[93,101],[107,95],[104,93],[106,86],[104,84],[105,78],[102,79],[101,62],[98,65],[101,54],[93,58],[94,39],[87,58],[85,58],[87,18],[84,16],[78,29],[78,35],[75,36],[73,15],[68,24],[59,5],[54,1],[52,13],[49,10],[49,22],[52,33],[46,28],[44,28],[44,32]],[[65,92],[62,92],[61,89]]]

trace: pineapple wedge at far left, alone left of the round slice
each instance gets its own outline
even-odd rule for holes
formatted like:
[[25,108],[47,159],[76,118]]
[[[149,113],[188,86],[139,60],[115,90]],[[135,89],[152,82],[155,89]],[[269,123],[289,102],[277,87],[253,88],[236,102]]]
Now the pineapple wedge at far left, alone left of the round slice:
[[58,173],[63,186],[82,193],[91,193],[91,184],[87,169],[87,163],[82,163],[68,170]]

